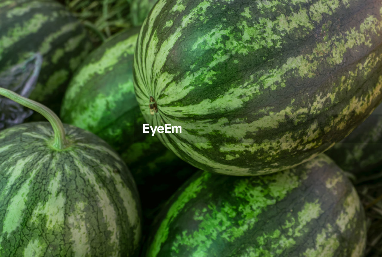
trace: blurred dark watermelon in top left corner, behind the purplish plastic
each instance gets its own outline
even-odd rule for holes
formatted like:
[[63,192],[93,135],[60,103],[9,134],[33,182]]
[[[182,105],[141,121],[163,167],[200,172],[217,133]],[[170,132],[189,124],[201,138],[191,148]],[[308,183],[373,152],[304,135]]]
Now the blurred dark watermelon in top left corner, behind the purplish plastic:
[[84,27],[53,0],[0,0],[0,21],[0,72],[39,52],[44,61],[29,98],[58,114],[69,79],[93,47]]

